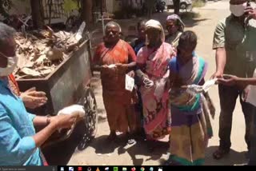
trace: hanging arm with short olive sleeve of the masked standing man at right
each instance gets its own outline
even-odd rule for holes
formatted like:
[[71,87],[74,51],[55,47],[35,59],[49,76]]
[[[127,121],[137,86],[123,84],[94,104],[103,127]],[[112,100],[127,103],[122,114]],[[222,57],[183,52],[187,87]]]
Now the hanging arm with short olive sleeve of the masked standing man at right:
[[216,72],[212,78],[222,78],[226,66],[225,24],[222,22],[215,29],[213,49],[216,50]]

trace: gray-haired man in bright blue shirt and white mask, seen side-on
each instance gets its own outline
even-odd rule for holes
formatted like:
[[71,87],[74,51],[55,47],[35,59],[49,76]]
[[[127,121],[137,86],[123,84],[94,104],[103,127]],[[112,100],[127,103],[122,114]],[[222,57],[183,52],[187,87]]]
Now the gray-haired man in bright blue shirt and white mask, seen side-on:
[[[15,30],[0,22],[0,165],[43,165],[39,147],[58,129],[74,125],[74,115],[38,117],[27,113],[22,100],[10,90],[15,55]],[[34,126],[45,126],[35,133]]]

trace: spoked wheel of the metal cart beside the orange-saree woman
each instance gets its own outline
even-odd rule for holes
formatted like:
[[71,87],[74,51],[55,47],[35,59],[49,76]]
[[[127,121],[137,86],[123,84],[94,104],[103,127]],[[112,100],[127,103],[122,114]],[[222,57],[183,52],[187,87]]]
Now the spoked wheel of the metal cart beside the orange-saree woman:
[[78,101],[78,105],[84,105],[86,111],[86,118],[84,122],[86,133],[83,135],[82,141],[78,145],[78,149],[82,150],[86,148],[89,141],[94,139],[98,129],[97,103],[92,89],[84,89],[82,97]]

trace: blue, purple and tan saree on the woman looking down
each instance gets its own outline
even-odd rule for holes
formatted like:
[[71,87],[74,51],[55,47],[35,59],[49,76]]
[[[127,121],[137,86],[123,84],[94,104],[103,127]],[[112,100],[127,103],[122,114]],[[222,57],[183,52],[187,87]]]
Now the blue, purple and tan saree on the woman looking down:
[[[206,62],[194,56],[184,66],[177,58],[170,62],[170,72],[185,85],[202,82]],[[176,79],[176,78],[175,78]],[[186,89],[170,90],[171,129],[170,161],[173,165],[203,165],[208,140],[213,136],[210,112],[203,94],[192,95]]]

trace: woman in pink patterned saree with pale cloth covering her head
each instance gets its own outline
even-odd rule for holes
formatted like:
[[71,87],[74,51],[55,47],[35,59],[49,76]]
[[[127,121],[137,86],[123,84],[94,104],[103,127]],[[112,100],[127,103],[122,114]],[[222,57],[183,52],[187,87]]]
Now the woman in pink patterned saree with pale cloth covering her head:
[[146,22],[146,46],[138,52],[136,73],[143,85],[140,92],[147,140],[158,140],[170,134],[168,63],[175,54],[164,39],[160,22]]

